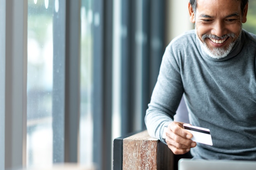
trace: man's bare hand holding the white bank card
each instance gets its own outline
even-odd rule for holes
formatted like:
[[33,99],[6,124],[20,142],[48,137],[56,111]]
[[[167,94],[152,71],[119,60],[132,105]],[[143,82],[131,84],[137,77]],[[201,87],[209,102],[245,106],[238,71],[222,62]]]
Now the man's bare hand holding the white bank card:
[[166,131],[165,142],[174,154],[185,154],[195,147],[196,143],[191,140],[192,134],[183,128],[182,122],[171,122]]

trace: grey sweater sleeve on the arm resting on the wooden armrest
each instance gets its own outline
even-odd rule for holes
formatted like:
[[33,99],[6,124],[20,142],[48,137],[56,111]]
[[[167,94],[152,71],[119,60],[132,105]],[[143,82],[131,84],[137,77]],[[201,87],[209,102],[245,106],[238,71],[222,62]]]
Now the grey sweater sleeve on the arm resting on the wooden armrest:
[[[173,121],[184,89],[179,68],[179,52],[172,43],[163,55],[158,80],[145,116],[149,135],[163,143],[163,129]],[[166,144],[166,143],[165,143]]]

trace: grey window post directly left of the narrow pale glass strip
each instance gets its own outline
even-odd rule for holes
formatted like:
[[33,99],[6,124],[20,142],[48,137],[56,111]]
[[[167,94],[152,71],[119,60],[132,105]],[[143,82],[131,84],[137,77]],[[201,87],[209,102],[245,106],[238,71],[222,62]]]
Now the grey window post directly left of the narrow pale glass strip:
[[66,0],[65,162],[79,162],[81,1]]

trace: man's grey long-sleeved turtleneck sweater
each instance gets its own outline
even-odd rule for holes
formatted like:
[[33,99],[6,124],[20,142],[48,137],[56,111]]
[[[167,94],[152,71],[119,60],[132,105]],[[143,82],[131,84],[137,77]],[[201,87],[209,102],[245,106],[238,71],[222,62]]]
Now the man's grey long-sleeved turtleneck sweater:
[[194,30],[171,41],[145,116],[149,134],[163,143],[182,95],[190,123],[212,135],[213,146],[191,148],[195,159],[256,160],[256,35],[242,30],[223,59],[202,51]]

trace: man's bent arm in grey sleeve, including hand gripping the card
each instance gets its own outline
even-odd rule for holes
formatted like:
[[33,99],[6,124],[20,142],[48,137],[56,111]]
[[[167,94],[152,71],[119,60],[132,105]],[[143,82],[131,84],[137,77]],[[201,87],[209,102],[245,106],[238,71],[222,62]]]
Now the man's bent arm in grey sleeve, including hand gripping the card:
[[[149,135],[166,143],[175,154],[189,152],[196,143],[191,141],[192,134],[183,128],[183,123],[173,122],[173,117],[184,93],[180,75],[179,58],[169,45],[161,63],[158,81],[151,96],[145,116]],[[164,127],[168,127],[163,138]]]

